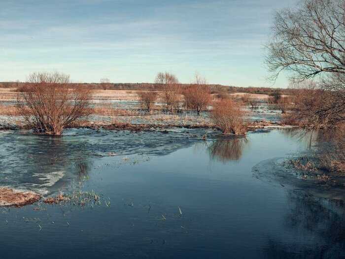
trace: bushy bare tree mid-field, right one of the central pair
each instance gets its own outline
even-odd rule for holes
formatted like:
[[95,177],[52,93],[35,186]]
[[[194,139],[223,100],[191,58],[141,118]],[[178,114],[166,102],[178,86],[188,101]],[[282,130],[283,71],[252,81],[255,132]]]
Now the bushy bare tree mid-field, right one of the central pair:
[[183,95],[186,107],[197,110],[198,115],[200,111],[207,108],[212,100],[207,80],[198,73],[195,74],[191,85],[183,91]]

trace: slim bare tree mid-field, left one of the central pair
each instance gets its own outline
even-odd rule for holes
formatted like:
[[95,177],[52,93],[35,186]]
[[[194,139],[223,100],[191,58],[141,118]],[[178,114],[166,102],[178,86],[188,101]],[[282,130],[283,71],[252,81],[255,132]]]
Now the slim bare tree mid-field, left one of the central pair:
[[168,72],[159,72],[156,76],[155,83],[158,84],[162,91],[162,99],[167,107],[173,111],[180,102],[180,85],[177,77]]

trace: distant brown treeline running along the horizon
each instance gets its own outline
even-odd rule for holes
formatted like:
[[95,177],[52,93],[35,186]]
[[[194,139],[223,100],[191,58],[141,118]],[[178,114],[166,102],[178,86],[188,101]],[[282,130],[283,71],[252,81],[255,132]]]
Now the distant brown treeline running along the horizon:
[[[22,82],[0,82],[2,88],[19,88],[21,91],[25,89],[28,83]],[[71,84],[71,88],[74,87],[74,83]],[[82,83],[87,89],[103,89],[101,83]],[[188,87],[189,84],[181,84],[182,88]],[[220,84],[209,85],[212,94],[220,93],[251,93],[251,94],[267,94],[273,95],[276,92],[280,94],[292,94],[292,89],[289,88],[271,88],[271,87],[237,87],[237,86],[225,86]],[[155,83],[110,83],[107,87],[109,90],[160,90],[160,85]]]

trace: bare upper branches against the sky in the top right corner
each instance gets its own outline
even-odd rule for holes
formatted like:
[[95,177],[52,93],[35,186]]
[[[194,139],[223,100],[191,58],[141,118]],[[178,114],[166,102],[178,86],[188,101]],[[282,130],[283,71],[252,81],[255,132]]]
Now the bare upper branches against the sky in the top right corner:
[[345,73],[344,0],[302,0],[276,12],[266,64],[271,79],[281,71],[299,79]]

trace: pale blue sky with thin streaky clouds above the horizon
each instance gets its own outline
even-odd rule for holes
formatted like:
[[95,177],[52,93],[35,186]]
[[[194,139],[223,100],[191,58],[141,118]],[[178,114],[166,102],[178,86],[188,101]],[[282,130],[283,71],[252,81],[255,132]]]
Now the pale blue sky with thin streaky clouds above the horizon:
[[286,87],[265,80],[274,11],[295,0],[0,0],[0,81],[60,71],[74,82]]

